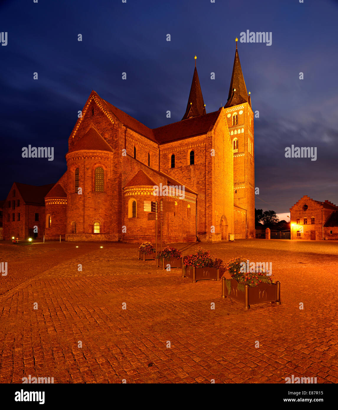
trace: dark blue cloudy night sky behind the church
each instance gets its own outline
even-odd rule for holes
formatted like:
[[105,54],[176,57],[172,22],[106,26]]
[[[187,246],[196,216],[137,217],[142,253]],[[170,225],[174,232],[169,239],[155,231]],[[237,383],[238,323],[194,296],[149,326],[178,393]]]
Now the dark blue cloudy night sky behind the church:
[[[337,204],[337,21],[332,0],[0,2],[0,31],[8,32],[0,46],[0,199],[14,181],[44,185],[62,176],[92,89],[150,128],[179,121],[196,54],[207,112],[225,105],[235,37],[250,30],[272,32],[271,46],[238,42],[259,111],[256,208],[288,212],[303,195]],[[28,144],[53,146],[54,161],[22,158]],[[317,160],[285,158],[291,144],[317,147]]]

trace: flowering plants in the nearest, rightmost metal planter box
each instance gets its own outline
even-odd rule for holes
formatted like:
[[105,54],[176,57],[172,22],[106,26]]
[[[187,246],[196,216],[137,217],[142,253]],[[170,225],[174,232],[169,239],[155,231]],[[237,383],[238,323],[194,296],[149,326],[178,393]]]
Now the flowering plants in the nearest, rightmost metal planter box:
[[225,268],[229,271],[231,279],[236,279],[239,284],[249,285],[249,287],[256,287],[260,283],[274,283],[271,276],[267,276],[265,267],[262,269],[250,268],[247,271],[247,264],[249,260],[243,257],[237,257],[229,260]]

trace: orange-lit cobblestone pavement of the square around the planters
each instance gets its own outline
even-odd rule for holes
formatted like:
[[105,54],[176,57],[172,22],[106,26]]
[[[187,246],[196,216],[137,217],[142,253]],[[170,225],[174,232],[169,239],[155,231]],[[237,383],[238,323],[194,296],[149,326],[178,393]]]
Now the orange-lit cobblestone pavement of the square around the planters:
[[225,262],[272,262],[282,304],[245,311],[221,281],[138,261],[136,245],[0,245],[1,383],[337,383],[338,243],[176,244],[183,255],[201,245]]

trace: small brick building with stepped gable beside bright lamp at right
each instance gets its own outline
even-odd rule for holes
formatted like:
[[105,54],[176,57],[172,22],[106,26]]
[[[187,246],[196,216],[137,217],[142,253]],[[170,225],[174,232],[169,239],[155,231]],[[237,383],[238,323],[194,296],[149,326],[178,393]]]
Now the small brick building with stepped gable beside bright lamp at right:
[[290,208],[291,239],[338,239],[338,207],[304,195]]

